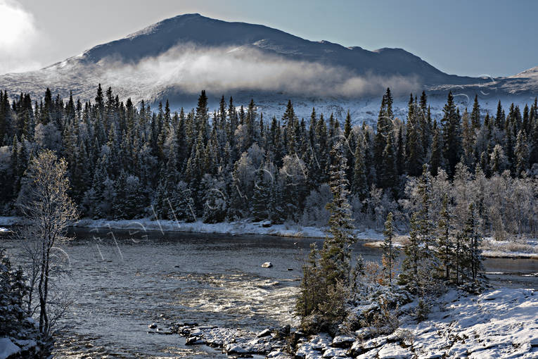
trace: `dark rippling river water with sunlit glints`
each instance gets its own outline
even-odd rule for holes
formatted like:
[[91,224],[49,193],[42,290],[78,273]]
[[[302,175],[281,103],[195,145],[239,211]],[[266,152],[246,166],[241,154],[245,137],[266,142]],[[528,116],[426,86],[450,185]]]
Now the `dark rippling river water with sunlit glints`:
[[[257,331],[291,324],[302,260],[321,239],[228,234],[77,229],[56,252],[70,267],[63,279],[75,303],[61,323],[56,358],[226,358],[205,346],[185,346],[169,322]],[[359,242],[354,251],[380,260]],[[4,239],[14,256],[20,243]],[[270,261],[274,267],[260,265]],[[538,260],[488,259],[494,285],[538,289]],[[493,274],[494,273],[494,274]]]

